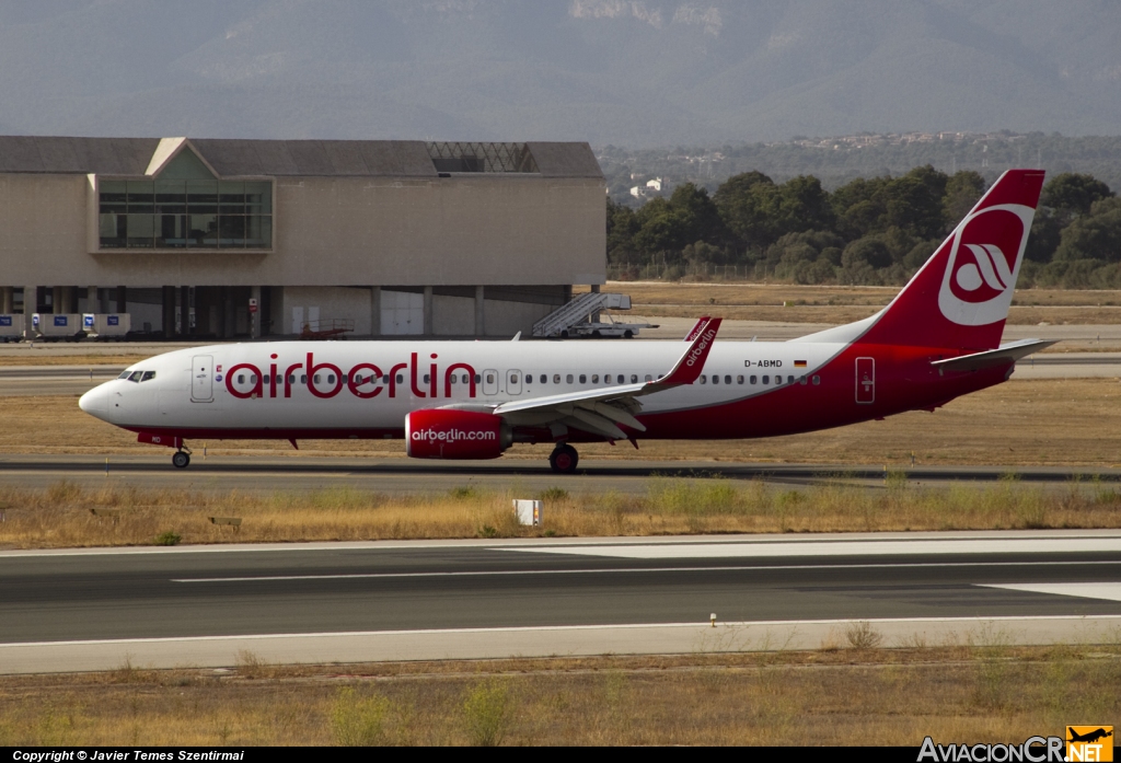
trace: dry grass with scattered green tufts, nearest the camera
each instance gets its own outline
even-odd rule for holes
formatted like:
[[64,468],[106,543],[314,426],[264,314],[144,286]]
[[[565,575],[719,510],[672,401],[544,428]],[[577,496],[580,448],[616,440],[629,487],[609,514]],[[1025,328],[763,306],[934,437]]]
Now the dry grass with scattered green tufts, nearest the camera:
[[[812,652],[0,678],[0,746],[1020,744],[1121,710],[1118,644],[999,633]],[[882,641],[882,640],[881,640]],[[883,646],[896,646],[884,649]]]

